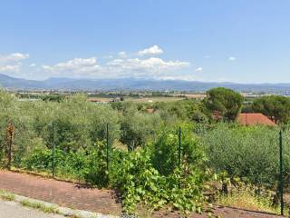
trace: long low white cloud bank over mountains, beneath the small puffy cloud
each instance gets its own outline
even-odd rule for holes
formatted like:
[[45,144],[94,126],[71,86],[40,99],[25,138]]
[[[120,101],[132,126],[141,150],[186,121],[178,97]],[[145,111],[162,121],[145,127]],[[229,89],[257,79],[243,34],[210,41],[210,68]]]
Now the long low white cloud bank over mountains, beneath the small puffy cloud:
[[117,58],[105,64],[97,64],[96,58],[74,58],[55,65],[43,65],[45,71],[53,74],[89,76],[94,78],[142,77],[162,78],[174,76],[175,70],[188,67],[188,62],[165,61],[157,57]]

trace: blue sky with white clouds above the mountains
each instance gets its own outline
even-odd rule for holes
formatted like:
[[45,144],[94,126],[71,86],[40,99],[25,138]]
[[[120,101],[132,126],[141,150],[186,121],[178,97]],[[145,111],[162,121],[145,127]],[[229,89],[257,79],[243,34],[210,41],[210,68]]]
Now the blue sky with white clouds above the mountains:
[[290,83],[288,0],[4,0],[0,73]]

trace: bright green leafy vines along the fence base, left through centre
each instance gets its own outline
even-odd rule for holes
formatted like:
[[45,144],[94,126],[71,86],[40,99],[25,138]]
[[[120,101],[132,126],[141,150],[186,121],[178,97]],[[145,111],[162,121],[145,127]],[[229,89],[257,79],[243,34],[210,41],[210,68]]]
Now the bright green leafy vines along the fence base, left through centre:
[[[78,179],[99,187],[117,188],[127,213],[141,204],[158,210],[168,207],[182,213],[201,212],[203,185],[207,181],[205,155],[192,126],[182,124],[182,163],[177,164],[177,127],[164,128],[154,142],[131,153],[110,149],[107,171],[106,144],[98,141],[90,148],[55,150],[58,176]],[[25,157],[22,167],[47,172],[52,170],[53,151],[42,142]],[[44,147],[43,147],[44,146]],[[163,163],[164,162],[164,163]]]

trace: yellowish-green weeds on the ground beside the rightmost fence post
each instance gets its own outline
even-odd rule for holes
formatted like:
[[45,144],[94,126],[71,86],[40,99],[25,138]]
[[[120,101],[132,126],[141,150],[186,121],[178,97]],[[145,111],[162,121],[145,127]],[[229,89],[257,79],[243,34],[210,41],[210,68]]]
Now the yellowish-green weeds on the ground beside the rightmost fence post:
[[[250,211],[280,213],[280,208],[273,206],[273,201],[270,196],[258,196],[249,190],[236,191],[227,195],[220,194],[217,203],[223,206],[236,207]],[[288,209],[285,208],[285,214],[287,213]]]

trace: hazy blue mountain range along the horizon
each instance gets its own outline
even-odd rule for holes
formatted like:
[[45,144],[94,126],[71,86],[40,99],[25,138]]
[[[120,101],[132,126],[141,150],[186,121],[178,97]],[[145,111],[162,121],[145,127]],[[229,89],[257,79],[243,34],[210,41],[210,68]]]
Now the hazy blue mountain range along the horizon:
[[49,78],[43,81],[14,78],[0,74],[0,86],[8,90],[63,90],[63,91],[112,91],[112,90],[151,90],[151,91],[192,91],[204,92],[214,87],[227,87],[240,92],[290,93],[290,84],[235,84],[183,80],[154,79],[72,79]]

